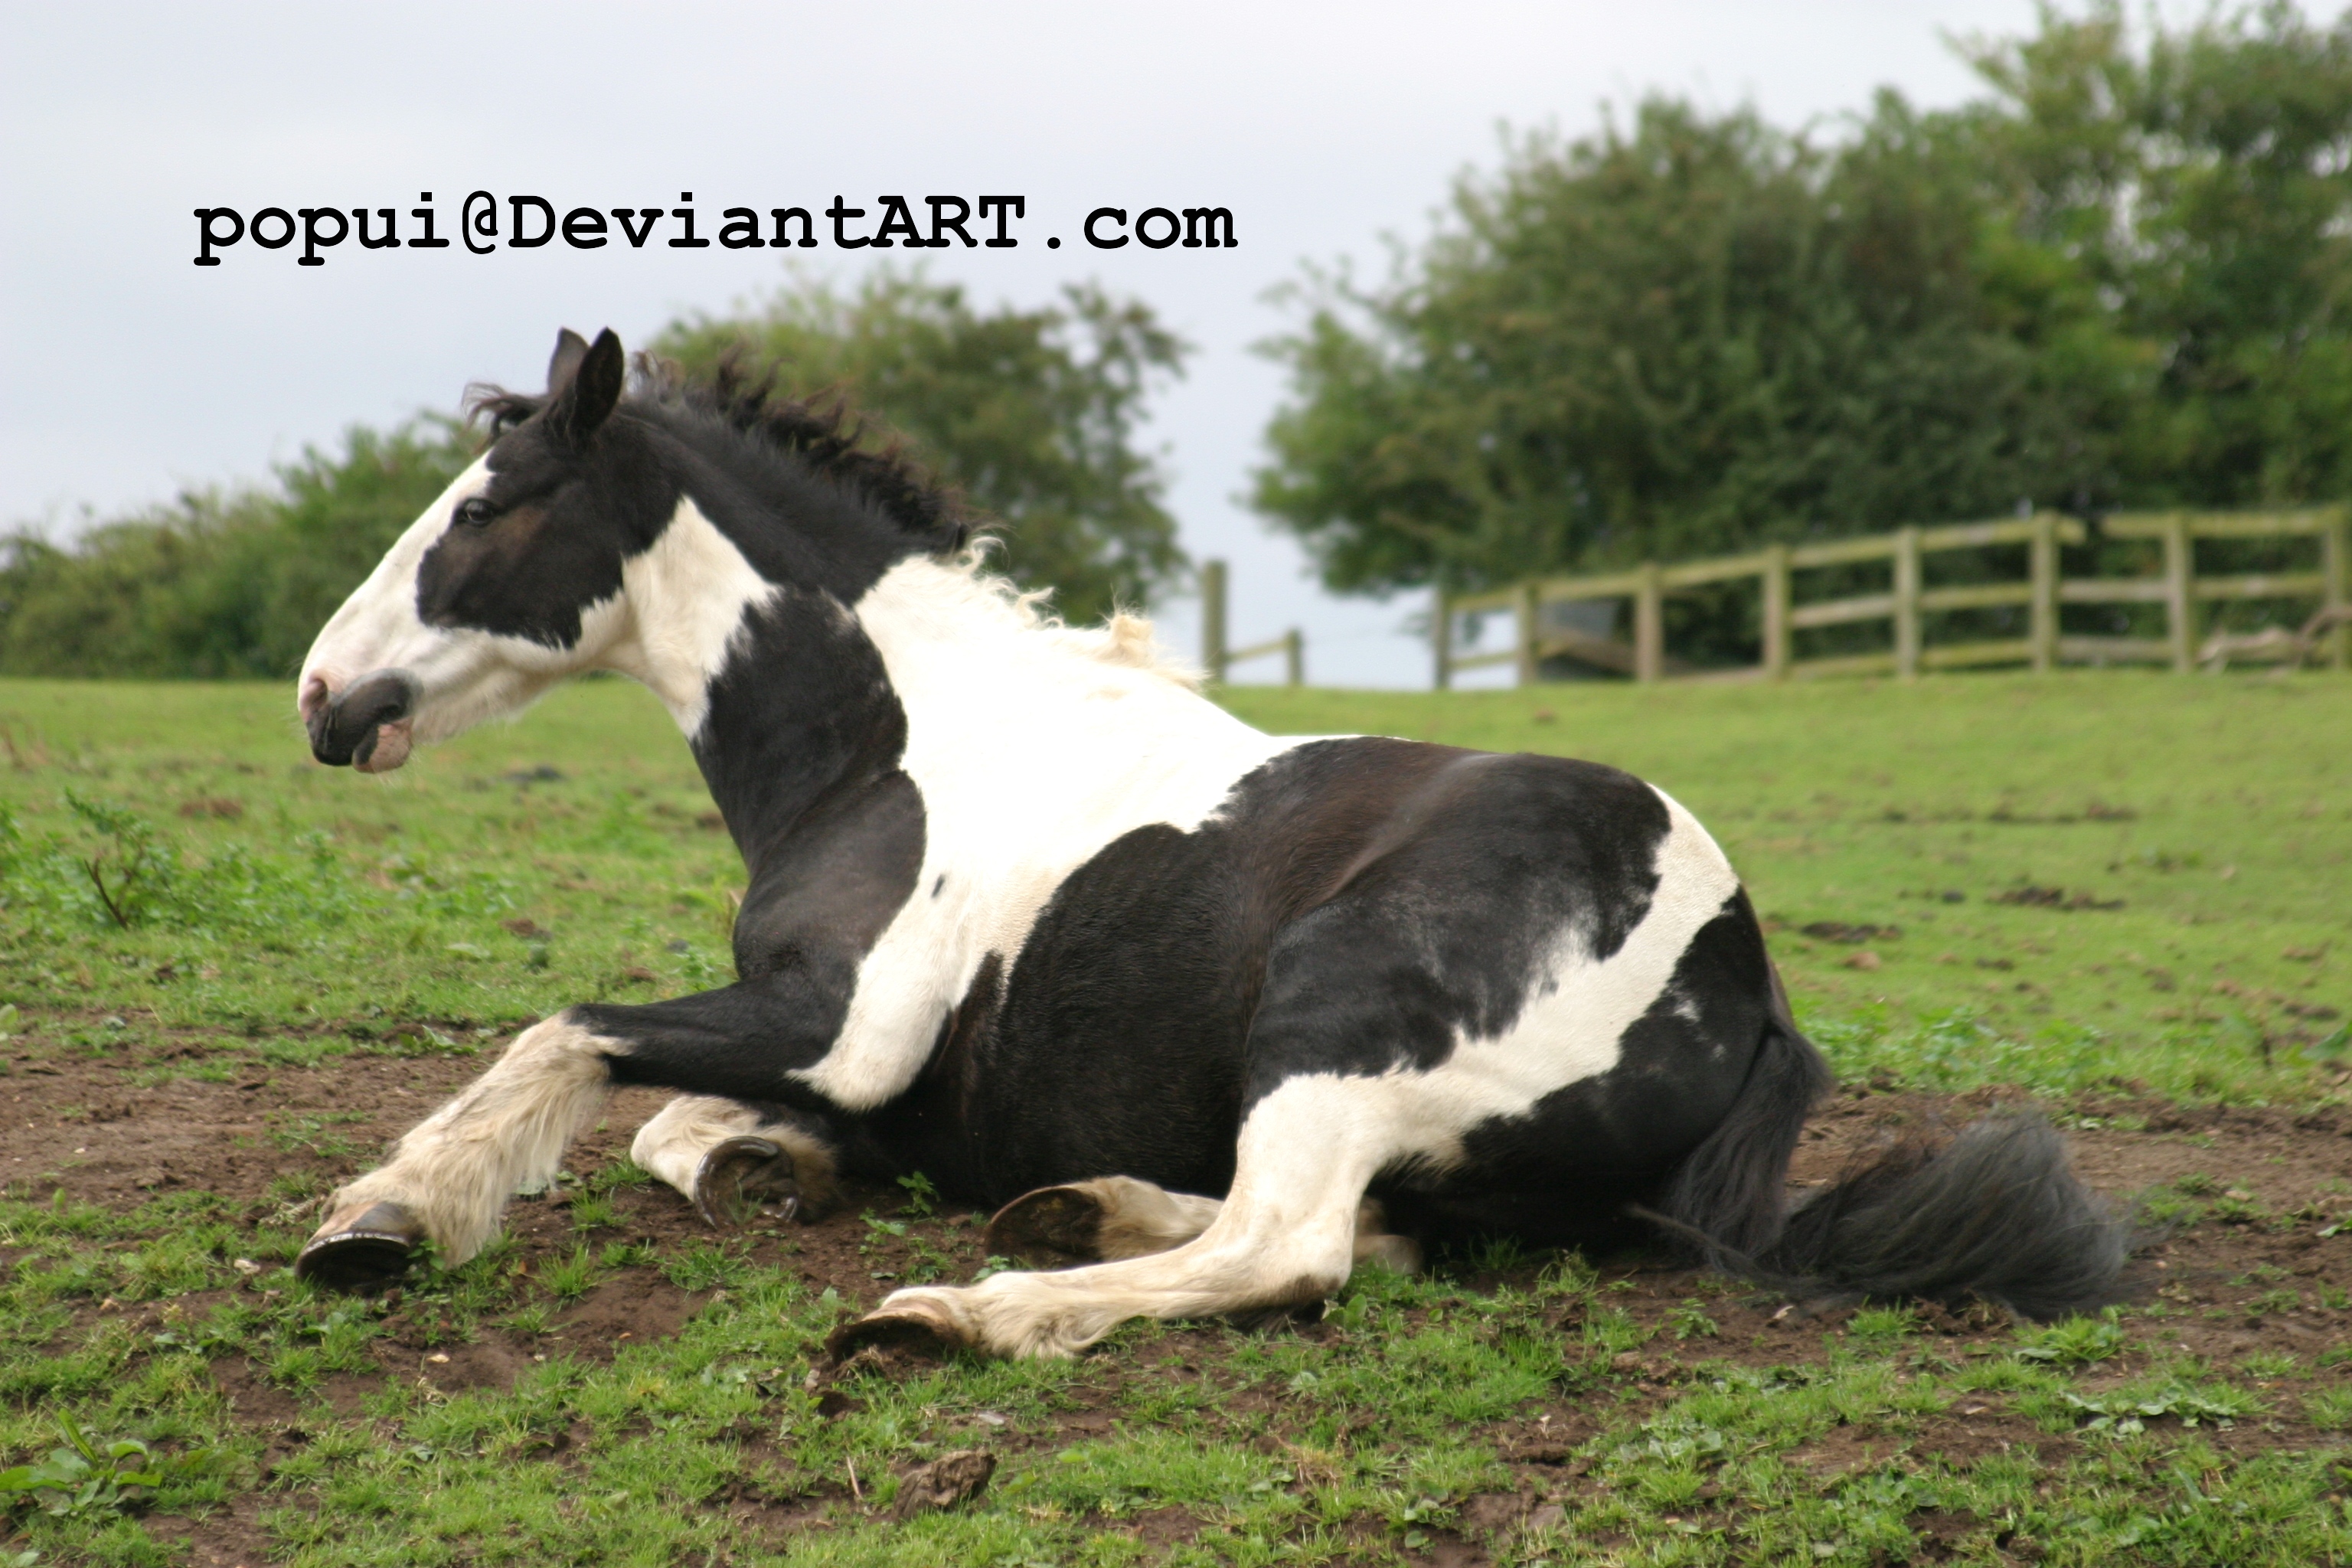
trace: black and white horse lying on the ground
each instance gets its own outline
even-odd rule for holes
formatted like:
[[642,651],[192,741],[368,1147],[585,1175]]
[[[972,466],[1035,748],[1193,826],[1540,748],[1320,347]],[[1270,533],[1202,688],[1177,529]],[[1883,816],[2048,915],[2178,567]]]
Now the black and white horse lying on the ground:
[[581,1004],[343,1187],[301,1255],[473,1255],[614,1084],[724,1220],[920,1168],[1082,1267],[894,1293],[861,1333],[1068,1354],[1129,1316],[1310,1302],[1416,1237],[1637,1213],[1799,1291],[2103,1300],[2124,1260],[2039,1121],[1907,1150],[1795,1215],[1828,1086],[1715,839],[1555,757],[1272,738],[1150,632],[1042,618],[950,503],[734,376],[539,397],[320,632],[320,762],[400,766],[579,670],[684,729],[750,870],[734,985]]

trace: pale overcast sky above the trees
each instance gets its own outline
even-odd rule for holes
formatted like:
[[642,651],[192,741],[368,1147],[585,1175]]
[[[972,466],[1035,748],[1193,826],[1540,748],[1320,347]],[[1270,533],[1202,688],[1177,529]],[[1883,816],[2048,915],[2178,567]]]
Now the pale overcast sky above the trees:
[[[1296,625],[1315,684],[1425,686],[1409,630],[1425,595],[1327,595],[1244,503],[1284,397],[1254,346],[1298,320],[1279,284],[1343,261],[1385,277],[1390,240],[1421,242],[1451,181],[1496,167],[1505,125],[1576,136],[1672,92],[1835,132],[1882,85],[1973,96],[1947,40],[2032,21],[2030,0],[14,5],[0,524],[66,536],[89,510],[259,480],[355,421],[452,409],[468,381],[541,386],[557,327],[635,346],[786,280],[779,252],[661,237],[487,256],[346,242],[322,266],[245,242],[193,266],[198,207],[397,207],[409,226],[430,190],[454,237],[473,190],[557,212],[694,193],[708,237],[734,205],[1021,195],[1021,244],[922,252],[929,273],[983,308],[1080,280],[1148,301],[1195,353],[1145,444],[1183,548],[1230,562],[1232,639]],[[1094,249],[1096,207],[1230,207],[1237,244]],[[854,282],[873,252],[790,254]],[[1195,651],[1192,602],[1155,614]]]

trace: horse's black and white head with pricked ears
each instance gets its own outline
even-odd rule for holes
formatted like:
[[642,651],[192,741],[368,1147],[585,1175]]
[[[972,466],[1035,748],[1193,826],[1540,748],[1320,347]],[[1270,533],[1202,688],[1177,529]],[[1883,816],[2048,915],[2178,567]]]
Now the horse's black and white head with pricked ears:
[[621,635],[623,567],[668,522],[644,430],[614,421],[621,339],[555,341],[543,397],[426,508],[310,644],[301,717],[320,762],[397,769],[409,745],[513,712]]

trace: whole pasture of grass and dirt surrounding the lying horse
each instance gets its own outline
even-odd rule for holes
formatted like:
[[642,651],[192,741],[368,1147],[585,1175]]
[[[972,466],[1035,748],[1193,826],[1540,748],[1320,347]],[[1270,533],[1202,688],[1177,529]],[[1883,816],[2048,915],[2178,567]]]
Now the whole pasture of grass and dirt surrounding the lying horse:
[[2152,1227],[2105,1316],[1470,1244],[1312,1324],[842,1368],[1002,1265],[978,1215],[710,1232],[626,1161],[644,1091],[466,1267],[292,1281],[517,1025],[724,978],[741,867],[635,686],[386,780],[289,698],[0,682],[0,1566],[2352,1563],[2352,682],[1225,696],[1672,790],[1846,1079],[1797,1180],[2034,1098]]

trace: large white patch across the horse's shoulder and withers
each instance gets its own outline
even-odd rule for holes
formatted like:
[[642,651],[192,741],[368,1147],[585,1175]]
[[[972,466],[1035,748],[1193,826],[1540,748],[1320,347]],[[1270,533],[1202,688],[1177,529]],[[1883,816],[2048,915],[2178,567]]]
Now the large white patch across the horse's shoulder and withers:
[[903,559],[858,599],[906,710],[924,863],[858,966],[849,1016],[804,1084],[844,1110],[915,1081],[990,952],[1011,961],[1054,889],[1152,823],[1195,830],[1249,771],[1296,745],[1202,701],[1138,656],[1136,625],[1040,625],[969,567]]

